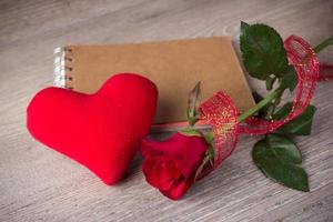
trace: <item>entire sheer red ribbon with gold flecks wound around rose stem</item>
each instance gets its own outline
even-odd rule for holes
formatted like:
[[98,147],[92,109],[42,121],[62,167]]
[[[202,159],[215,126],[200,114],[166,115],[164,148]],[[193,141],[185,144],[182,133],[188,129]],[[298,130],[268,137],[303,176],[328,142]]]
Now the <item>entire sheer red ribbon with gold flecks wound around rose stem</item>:
[[[202,118],[212,125],[214,133],[214,168],[219,167],[234,150],[240,133],[265,134],[300,115],[309,105],[320,77],[320,62],[311,46],[300,37],[291,36],[284,41],[289,63],[299,77],[292,111],[283,120],[263,120],[255,117],[244,123],[238,122],[238,110],[232,99],[218,92],[200,105]],[[330,67],[332,74],[332,65]],[[326,67],[325,67],[326,70]],[[324,77],[324,75],[323,75]],[[326,75],[332,77],[332,75]]]

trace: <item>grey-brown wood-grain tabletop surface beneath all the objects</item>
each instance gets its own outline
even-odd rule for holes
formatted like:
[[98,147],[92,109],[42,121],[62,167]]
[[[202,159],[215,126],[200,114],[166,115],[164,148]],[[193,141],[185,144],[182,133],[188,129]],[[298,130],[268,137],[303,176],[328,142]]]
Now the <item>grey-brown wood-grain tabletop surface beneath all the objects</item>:
[[[140,159],[119,185],[36,142],[26,107],[52,82],[52,51],[69,43],[124,43],[231,36],[264,22],[313,44],[333,34],[332,1],[1,0],[0,221],[333,221],[333,83],[320,83],[311,137],[297,138],[311,192],[285,189],[255,169],[258,138],[242,137],[222,168],[173,202],[144,181]],[[321,54],[332,60],[333,50]],[[263,85],[251,81],[252,89]]]

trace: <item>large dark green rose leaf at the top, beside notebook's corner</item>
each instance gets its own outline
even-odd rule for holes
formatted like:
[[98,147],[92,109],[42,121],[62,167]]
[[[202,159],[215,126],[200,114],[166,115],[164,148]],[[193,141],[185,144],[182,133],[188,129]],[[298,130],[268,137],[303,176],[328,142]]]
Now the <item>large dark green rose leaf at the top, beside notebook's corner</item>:
[[286,53],[280,34],[265,24],[241,23],[241,51],[250,75],[266,80],[271,74],[281,77],[287,68]]

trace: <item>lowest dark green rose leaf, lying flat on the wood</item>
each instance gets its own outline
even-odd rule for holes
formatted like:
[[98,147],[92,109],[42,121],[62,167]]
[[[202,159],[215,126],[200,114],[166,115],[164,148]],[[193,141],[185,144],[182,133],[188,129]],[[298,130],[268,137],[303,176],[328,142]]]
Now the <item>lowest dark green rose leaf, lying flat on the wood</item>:
[[283,135],[268,134],[252,150],[255,165],[270,179],[287,188],[309,191],[302,155],[294,142]]

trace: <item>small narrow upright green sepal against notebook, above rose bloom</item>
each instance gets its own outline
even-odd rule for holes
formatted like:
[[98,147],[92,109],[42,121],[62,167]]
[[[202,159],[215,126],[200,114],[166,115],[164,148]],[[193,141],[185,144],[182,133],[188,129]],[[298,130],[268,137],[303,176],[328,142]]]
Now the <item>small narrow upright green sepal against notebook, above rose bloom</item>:
[[198,108],[200,104],[200,97],[201,89],[200,82],[198,82],[189,94],[186,115],[190,125],[194,125],[198,121]]

